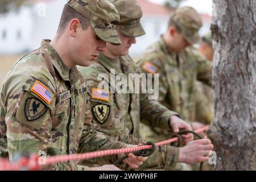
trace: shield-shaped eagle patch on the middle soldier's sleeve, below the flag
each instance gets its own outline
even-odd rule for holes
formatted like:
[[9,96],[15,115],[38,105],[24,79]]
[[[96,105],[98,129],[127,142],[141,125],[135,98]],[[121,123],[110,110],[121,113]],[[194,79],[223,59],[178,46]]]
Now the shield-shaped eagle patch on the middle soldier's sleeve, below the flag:
[[92,108],[92,113],[96,120],[103,124],[109,118],[110,114],[110,106],[106,104],[97,104]]

